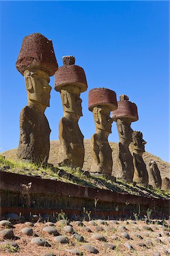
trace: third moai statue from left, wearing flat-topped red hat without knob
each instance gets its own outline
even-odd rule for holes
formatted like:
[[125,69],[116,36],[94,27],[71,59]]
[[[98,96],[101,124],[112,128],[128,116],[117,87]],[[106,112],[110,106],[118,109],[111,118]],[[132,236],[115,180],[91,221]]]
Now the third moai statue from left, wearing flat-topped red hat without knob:
[[112,127],[110,113],[117,109],[116,93],[106,88],[90,90],[88,109],[93,113],[96,132],[91,137],[92,165],[90,172],[112,175],[112,149],[108,136]]

